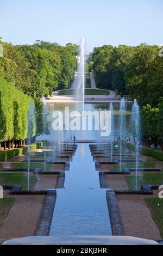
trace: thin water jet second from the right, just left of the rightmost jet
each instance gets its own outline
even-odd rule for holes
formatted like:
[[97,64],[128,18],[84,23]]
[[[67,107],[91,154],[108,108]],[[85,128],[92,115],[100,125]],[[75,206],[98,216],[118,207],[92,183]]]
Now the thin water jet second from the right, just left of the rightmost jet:
[[126,103],[123,97],[120,103],[120,172],[122,162],[122,135],[124,132],[124,111],[126,111]]

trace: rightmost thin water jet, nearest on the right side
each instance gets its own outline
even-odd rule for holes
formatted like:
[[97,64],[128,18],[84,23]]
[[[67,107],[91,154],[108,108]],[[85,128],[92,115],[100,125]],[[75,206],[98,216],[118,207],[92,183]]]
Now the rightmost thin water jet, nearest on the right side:
[[132,115],[131,115],[131,130],[135,141],[135,188],[137,190],[137,170],[139,168],[139,145],[140,145],[140,109],[137,101],[134,100]]

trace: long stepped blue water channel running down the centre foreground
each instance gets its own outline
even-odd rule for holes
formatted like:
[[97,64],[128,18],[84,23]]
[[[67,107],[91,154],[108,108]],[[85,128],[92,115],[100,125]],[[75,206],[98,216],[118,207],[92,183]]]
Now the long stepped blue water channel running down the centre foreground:
[[89,144],[78,144],[65,190],[57,190],[49,235],[111,235],[105,193],[99,188]]

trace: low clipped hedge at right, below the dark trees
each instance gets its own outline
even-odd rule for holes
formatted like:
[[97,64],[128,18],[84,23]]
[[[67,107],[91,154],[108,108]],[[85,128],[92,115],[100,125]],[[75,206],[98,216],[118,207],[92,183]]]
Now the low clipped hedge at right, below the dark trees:
[[[131,144],[131,143],[125,143],[125,146],[128,149],[134,150],[135,151],[135,145]],[[143,155],[147,155],[147,156],[153,156],[156,159],[163,161],[163,151],[159,151],[156,149],[150,149],[150,148],[146,148],[146,147],[140,147],[140,153]]]

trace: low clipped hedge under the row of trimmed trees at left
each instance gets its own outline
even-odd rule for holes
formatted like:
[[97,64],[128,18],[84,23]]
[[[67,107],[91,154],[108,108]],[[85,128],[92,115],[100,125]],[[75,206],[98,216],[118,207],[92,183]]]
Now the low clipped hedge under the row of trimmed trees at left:
[[0,151],[0,161],[7,161],[11,157],[14,157],[14,156],[17,156],[17,155],[20,155],[20,154],[24,154],[28,150],[34,150],[34,149],[40,148],[42,146],[43,146],[43,142],[39,142],[39,143],[36,143],[36,144],[25,146],[23,148],[10,149],[10,150],[7,150],[7,151]]

